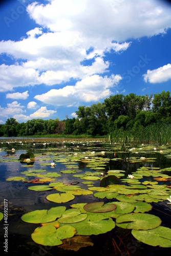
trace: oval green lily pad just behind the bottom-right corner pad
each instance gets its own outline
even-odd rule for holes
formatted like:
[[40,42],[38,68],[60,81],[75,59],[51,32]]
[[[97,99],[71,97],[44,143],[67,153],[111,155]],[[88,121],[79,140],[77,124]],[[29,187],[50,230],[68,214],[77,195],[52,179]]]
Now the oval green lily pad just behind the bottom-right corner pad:
[[[120,225],[122,223],[123,226]],[[147,230],[160,226],[161,220],[159,217],[152,214],[132,213],[119,216],[116,219],[116,224],[120,227],[128,229]]]

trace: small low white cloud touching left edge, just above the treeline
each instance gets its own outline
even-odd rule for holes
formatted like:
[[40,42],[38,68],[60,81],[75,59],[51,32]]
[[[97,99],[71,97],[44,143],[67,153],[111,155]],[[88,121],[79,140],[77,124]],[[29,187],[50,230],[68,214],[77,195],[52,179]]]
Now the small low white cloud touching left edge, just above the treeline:
[[20,105],[17,101],[13,101],[12,103],[7,103],[6,108],[2,108],[0,106],[0,116],[3,117],[13,117],[14,115],[23,114],[26,111],[23,110],[25,106]]

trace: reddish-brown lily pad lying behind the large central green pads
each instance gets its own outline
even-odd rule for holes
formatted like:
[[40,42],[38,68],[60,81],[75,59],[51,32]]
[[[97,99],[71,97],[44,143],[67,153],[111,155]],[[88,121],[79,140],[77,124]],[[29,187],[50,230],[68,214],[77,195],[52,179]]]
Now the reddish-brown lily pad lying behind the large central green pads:
[[83,209],[89,212],[106,212],[116,209],[115,204],[104,204],[104,202],[93,202],[83,206]]

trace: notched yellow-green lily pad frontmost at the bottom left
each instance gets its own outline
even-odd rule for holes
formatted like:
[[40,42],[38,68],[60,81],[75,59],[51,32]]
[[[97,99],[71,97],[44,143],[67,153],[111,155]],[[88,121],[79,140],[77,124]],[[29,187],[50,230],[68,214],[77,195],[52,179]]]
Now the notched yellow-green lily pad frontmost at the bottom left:
[[55,246],[62,244],[62,239],[72,238],[76,233],[72,226],[65,225],[56,229],[53,225],[37,227],[31,234],[31,238],[37,244]]

